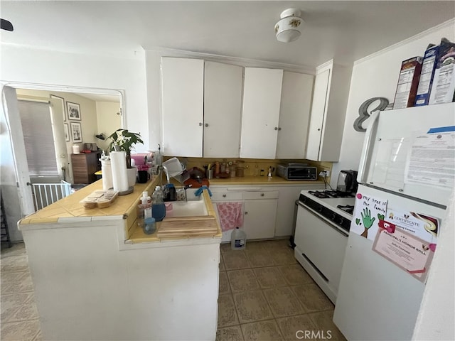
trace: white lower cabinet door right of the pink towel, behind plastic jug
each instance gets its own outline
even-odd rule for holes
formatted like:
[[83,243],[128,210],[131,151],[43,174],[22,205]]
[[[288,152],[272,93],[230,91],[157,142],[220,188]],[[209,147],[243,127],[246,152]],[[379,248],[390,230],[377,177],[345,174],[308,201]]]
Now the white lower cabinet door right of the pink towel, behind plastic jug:
[[243,229],[247,239],[274,237],[277,201],[277,199],[245,200]]

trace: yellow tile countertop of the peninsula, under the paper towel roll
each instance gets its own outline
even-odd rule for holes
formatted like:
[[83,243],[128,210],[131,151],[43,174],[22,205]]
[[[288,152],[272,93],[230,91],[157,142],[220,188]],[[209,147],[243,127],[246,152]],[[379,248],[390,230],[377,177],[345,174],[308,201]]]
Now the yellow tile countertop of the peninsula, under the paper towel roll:
[[[95,190],[102,190],[102,180],[85,186],[75,193],[64,197],[53,204],[44,207],[31,215],[19,220],[19,229],[26,227],[26,224],[45,224],[53,222],[80,222],[84,220],[107,220],[107,219],[127,219],[136,220],[137,202],[144,190],[149,193],[153,191],[156,179],[149,180],[147,183],[137,183],[134,185],[133,193],[128,195],[118,195],[112,205],[106,208],[86,209],[80,204],[80,200],[90,195]],[[132,214],[134,212],[134,214]],[[132,222],[131,222],[132,223]],[[129,224],[129,222],[128,222]],[[22,225],[22,226],[21,226]],[[22,228],[21,228],[22,227]]]

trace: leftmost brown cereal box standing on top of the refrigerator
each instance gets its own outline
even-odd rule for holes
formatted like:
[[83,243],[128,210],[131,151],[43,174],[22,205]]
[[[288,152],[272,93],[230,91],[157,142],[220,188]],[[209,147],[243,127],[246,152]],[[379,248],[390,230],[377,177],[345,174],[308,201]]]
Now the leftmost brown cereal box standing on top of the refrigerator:
[[422,62],[422,57],[414,57],[404,60],[401,63],[393,109],[414,106],[414,99],[417,94],[417,87],[419,86],[420,72],[422,71]]

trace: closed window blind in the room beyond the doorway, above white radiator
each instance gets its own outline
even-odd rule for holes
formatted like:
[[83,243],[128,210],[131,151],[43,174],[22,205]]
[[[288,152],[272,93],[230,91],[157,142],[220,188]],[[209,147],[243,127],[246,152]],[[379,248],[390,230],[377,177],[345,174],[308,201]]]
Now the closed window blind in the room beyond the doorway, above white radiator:
[[49,103],[18,101],[30,176],[58,175]]

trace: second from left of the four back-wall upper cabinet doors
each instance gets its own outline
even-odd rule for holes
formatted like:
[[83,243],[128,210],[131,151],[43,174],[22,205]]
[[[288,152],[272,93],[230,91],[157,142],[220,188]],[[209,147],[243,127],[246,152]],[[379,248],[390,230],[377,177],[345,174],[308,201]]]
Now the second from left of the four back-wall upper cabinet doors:
[[205,158],[238,158],[243,67],[205,62]]

